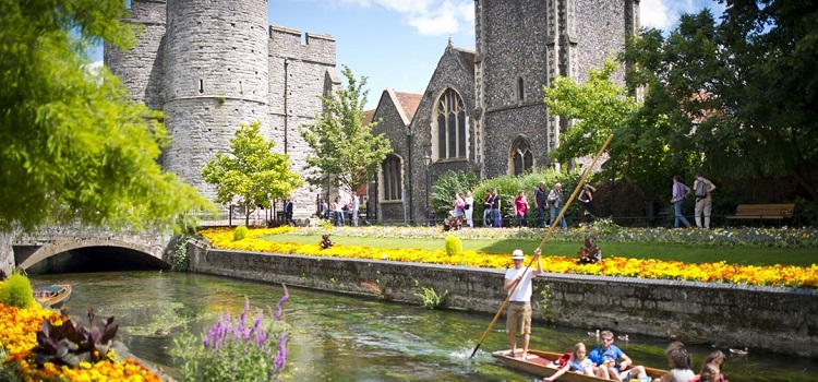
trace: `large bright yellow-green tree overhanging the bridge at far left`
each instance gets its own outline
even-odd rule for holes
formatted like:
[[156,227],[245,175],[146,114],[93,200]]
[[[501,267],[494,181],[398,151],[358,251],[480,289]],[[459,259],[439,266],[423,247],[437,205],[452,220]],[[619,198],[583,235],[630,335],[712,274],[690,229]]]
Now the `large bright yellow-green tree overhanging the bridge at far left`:
[[92,44],[134,43],[112,0],[0,0],[0,229],[82,222],[167,227],[208,207],[156,163],[159,115],[92,71]]

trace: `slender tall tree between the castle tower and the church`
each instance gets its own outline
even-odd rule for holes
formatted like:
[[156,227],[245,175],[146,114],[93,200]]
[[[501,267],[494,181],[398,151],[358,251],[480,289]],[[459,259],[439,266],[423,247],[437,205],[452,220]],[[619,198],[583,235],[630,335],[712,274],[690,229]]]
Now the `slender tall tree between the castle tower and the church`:
[[341,73],[347,77],[347,86],[332,97],[320,97],[326,111],[316,116],[315,123],[302,124],[299,131],[314,153],[306,158],[310,171],[306,181],[349,192],[375,180],[392,145],[384,134],[372,134],[380,121],[362,122],[369,93],[362,92],[366,77],[356,80],[346,65]]

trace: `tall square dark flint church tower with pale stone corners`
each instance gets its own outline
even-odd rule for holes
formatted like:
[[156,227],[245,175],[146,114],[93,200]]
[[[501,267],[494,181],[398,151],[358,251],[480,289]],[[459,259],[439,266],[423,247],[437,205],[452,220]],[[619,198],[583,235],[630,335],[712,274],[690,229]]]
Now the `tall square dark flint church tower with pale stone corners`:
[[[474,0],[476,160],[482,177],[550,165],[567,121],[543,85],[588,79],[638,28],[638,0]],[[622,80],[622,79],[619,79]]]

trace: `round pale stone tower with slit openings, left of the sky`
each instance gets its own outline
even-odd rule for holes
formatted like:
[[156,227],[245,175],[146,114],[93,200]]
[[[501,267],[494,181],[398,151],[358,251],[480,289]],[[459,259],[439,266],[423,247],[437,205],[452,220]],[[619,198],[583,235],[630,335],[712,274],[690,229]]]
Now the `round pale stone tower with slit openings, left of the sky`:
[[209,199],[202,168],[229,152],[239,122],[269,124],[266,25],[266,0],[168,0],[164,165]]

